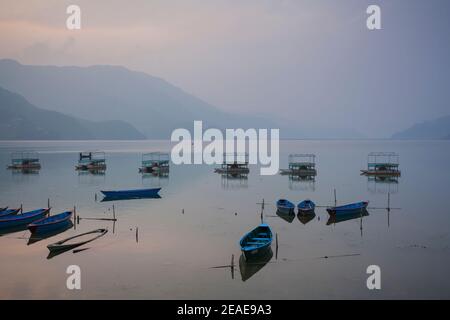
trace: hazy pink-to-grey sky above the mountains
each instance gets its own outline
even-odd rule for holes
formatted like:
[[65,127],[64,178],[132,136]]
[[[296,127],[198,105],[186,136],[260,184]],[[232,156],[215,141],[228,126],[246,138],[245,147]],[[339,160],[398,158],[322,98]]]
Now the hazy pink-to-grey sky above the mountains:
[[450,114],[449,39],[448,0],[0,0],[1,58],[123,65],[224,110],[372,137]]

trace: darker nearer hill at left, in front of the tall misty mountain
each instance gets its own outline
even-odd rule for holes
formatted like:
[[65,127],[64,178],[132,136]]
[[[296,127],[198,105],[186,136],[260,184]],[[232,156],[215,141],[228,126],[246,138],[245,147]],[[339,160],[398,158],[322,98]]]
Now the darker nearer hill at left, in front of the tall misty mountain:
[[124,121],[93,122],[40,109],[0,87],[0,140],[135,140],[145,136]]

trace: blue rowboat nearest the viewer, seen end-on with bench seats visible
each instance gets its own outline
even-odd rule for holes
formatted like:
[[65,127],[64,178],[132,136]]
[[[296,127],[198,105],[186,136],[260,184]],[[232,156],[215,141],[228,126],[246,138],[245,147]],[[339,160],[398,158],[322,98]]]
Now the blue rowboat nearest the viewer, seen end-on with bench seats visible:
[[262,223],[244,235],[239,245],[246,259],[256,258],[264,255],[270,249],[272,238],[272,230],[269,225]]

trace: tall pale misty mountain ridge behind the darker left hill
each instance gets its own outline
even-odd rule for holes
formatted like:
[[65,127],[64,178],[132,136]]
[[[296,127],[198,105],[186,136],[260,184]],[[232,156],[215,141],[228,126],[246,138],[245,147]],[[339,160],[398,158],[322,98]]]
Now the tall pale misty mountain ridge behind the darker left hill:
[[[274,115],[224,112],[167,81],[120,66],[57,67],[0,60],[0,86],[46,109],[93,121],[121,119],[148,138],[169,139],[173,129],[280,128],[283,138],[361,138],[351,129],[300,128]],[[233,94],[230,92],[230,94]]]

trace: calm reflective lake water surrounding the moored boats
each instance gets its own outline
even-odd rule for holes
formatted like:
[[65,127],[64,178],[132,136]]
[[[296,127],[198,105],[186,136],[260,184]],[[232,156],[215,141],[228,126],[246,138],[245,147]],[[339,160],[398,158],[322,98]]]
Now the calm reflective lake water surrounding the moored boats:
[[[39,174],[5,169],[10,152],[23,149],[40,152]],[[77,152],[92,149],[106,151],[105,175],[74,170]],[[170,150],[164,141],[0,142],[0,206],[29,210],[50,198],[53,214],[76,205],[82,218],[110,218],[114,204],[118,218],[114,226],[81,220],[76,230],[30,245],[28,231],[1,236],[0,298],[450,298],[450,142],[283,141],[282,167],[289,153],[317,155],[315,182],[260,176],[255,166],[246,180],[188,165],[172,165],[168,178],[143,178],[141,153],[164,150]],[[360,176],[371,151],[400,154],[398,183]],[[162,187],[161,199],[95,201],[102,189],[151,186]],[[367,199],[371,207],[386,207],[390,192],[391,206],[401,210],[369,209],[362,220],[331,225],[324,208],[306,224],[275,214],[279,197],[329,205],[334,188],[338,203]],[[265,221],[279,237],[278,253],[274,243],[266,265],[239,266],[238,241],[260,223],[262,199]],[[48,244],[102,227],[109,232],[88,250],[47,259]],[[234,274],[211,268],[230,264],[232,255]],[[66,289],[72,264],[81,267],[80,291]],[[378,291],[366,287],[372,264],[381,267]]]

